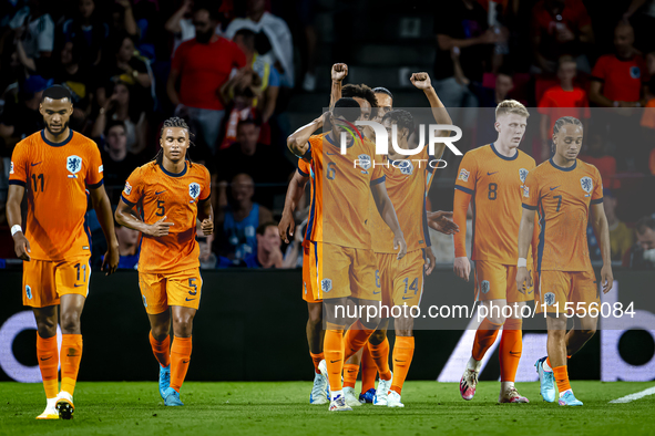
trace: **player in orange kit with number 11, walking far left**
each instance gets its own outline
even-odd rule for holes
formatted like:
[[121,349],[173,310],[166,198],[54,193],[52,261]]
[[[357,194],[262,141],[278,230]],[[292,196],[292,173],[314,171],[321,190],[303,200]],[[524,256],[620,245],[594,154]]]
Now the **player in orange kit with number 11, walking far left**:
[[[37,319],[37,356],[47,406],[38,419],[70,419],[82,359],[80,316],[89,295],[91,238],[85,224],[88,194],[108,240],[103,269],[119,264],[119,242],[112,208],[103,186],[98,145],[73,132],[70,92],[63,86],[43,91],[39,107],[45,128],[17,144],[11,156],[7,218],[16,255],[23,262],[23,304]],[[27,226],[21,227],[28,191]],[[61,392],[57,345],[58,310],[62,330]]]

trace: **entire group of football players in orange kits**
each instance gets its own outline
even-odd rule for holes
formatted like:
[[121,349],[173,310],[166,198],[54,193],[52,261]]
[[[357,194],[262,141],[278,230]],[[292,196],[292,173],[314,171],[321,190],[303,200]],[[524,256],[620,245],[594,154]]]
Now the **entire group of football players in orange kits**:
[[[436,263],[432,228],[453,235],[454,273],[465,281],[472,279],[475,301],[511,309],[506,318],[491,312],[480,323],[460,382],[462,398],[473,398],[484,354],[502,329],[499,403],[529,402],[516,391],[514,377],[522,351],[521,308],[534,300],[538,311],[547,312],[546,356],[535,363],[541,395],[554,402],[557,390],[560,405],[582,405],[571,390],[566,361],[594,334],[596,319],[575,316],[575,328],[566,332],[563,314],[566,303],[580,308],[600,301],[586,242],[590,210],[603,256],[604,292],[611,290],[613,277],[601,176],[593,165],[576,158],[584,134],[581,122],[557,120],[552,157],[535,166],[534,159],[519,150],[528,110],[515,101],[501,102],[495,110],[497,141],[461,159],[452,212],[428,211],[428,191],[444,145],[416,154],[412,114],[395,110],[393,96],[385,87],[341,86],[347,75],[346,64],[332,66],[329,110],[287,139],[298,157],[279,222],[279,235],[287,242],[296,227],[296,205],[306,184],[310,185],[301,283],[315,368],[309,402],[329,404],[330,412],[352,411],[365,403],[405,407],[401,393],[415,353],[413,318],[403,311],[395,319],[396,341],[390,350],[389,319],[381,314],[393,307],[420,305],[424,277]],[[410,81],[426,95],[436,124],[451,125],[429,75],[415,73]],[[181,118],[164,123],[158,154],[133,170],[114,214],[103,186],[98,146],[69,127],[70,92],[59,85],[45,90],[40,113],[45,128],[13,150],[7,201],[16,253],[23,260],[23,303],[32,308],[38,325],[37,355],[47,398],[38,418],[70,419],[74,414],[73,392],[82,357],[80,318],[91,277],[85,224],[89,197],[109,247],[103,259],[108,274],[119,263],[114,219],[141,232],[134,288],[141,291],[151,324],[158,392],[166,406],[182,406],[180,388],[191,361],[193,319],[203,287],[196,228],[211,235],[214,222],[209,173],[187,155],[192,133]],[[382,144],[387,154],[376,153],[382,138],[370,122],[387,132]],[[450,133],[437,134],[447,137]],[[472,266],[465,249],[470,205]],[[387,311],[362,316],[373,313],[368,311],[371,308]],[[357,395],[360,365],[362,391]]]

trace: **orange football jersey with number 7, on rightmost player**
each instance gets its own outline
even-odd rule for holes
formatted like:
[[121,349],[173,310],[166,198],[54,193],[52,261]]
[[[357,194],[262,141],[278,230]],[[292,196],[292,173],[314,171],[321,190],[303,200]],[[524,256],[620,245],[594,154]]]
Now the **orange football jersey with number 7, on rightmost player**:
[[592,269],[586,241],[591,204],[603,203],[598,169],[580,159],[569,168],[549,159],[530,172],[523,207],[539,212],[538,271]]

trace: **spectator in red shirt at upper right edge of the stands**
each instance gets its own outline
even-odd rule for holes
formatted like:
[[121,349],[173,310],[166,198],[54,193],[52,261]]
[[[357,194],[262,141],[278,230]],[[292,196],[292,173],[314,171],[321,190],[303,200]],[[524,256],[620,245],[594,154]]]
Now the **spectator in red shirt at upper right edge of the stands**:
[[622,21],[614,30],[614,54],[598,58],[592,71],[590,100],[604,107],[644,106],[649,74],[644,58],[634,48],[632,27]]

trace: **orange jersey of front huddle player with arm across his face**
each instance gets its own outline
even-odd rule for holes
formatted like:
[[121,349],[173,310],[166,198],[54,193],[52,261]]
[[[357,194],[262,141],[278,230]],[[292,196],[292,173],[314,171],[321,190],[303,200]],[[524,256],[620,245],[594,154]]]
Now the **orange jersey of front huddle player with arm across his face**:
[[346,154],[330,134],[309,138],[314,195],[307,237],[341,247],[371,248],[368,225],[371,186],[385,181],[376,146],[359,137]]

